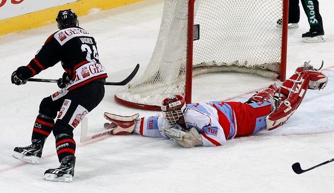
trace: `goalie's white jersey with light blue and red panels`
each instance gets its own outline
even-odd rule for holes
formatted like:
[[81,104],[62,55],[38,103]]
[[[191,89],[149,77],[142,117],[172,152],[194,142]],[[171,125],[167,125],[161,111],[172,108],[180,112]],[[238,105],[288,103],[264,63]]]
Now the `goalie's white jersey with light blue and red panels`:
[[[219,123],[219,114],[223,113],[225,122]],[[205,104],[188,104],[184,114],[187,129],[195,128],[200,133],[203,146],[220,146],[226,139],[232,139],[237,133],[235,113],[230,105],[223,102],[208,102]],[[134,132],[149,137],[169,138],[165,128],[170,126],[163,116],[143,117],[136,122]],[[179,125],[175,129],[182,129]]]

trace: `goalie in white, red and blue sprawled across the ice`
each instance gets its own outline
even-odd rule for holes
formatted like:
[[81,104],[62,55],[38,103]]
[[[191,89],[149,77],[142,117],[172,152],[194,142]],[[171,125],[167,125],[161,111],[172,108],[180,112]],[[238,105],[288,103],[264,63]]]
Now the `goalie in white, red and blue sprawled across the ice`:
[[112,134],[115,135],[134,132],[164,137],[186,148],[220,146],[236,136],[283,125],[300,105],[308,89],[326,86],[328,78],[318,70],[305,63],[282,86],[270,85],[245,103],[212,101],[186,105],[182,96],[173,95],[162,102],[163,116],[104,115],[112,122],[108,129],[114,129]]

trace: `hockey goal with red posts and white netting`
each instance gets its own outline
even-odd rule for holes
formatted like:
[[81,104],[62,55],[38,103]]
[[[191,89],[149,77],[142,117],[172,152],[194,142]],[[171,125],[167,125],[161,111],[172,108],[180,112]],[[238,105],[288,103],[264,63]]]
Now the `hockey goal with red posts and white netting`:
[[[284,80],[287,27],[276,27],[282,18],[287,26],[284,1],[165,0],[149,64],[140,80],[116,92],[115,100],[159,110],[164,98],[182,94],[189,103],[191,76],[211,72],[237,71]],[[193,26],[198,24],[199,40],[193,41]]]

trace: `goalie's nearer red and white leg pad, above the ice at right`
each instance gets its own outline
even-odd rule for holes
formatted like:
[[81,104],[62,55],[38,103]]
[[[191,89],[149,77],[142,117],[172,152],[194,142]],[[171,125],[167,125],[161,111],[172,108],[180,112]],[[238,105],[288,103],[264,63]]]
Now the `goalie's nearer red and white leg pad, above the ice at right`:
[[309,83],[309,74],[305,72],[294,74],[289,80],[283,83],[281,90],[287,98],[275,111],[271,112],[266,117],[265,122],[267,130],[276,129],[290,118],[302,102],[309,87]]

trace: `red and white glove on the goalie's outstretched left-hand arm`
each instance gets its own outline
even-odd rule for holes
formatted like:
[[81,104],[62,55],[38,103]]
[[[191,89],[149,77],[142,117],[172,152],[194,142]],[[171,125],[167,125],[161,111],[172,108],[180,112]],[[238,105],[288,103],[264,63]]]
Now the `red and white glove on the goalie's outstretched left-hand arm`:
[[112,122],[107,125],[106,129],[111,129],[111,133],[114,135],[126,135],[132,133],[135,129],[138,117],[138,113],[132,116],[120,116],[107,112],[104,113],[104,118]]

